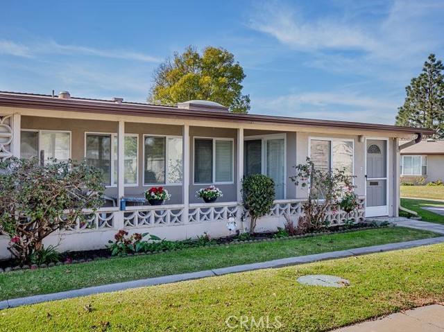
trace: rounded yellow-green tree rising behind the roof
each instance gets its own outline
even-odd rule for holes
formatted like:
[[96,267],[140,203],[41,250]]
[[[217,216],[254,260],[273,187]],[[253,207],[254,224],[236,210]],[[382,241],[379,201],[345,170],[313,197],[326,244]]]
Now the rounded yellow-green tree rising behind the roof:
[[148,103],[176,105],[199,99],[225,105],[230,112],[248,113],[250,96],[241,94],[244,78],[244,69],[227,50],[207,46],[200,55],[196,47],[188,46],[154,71]]

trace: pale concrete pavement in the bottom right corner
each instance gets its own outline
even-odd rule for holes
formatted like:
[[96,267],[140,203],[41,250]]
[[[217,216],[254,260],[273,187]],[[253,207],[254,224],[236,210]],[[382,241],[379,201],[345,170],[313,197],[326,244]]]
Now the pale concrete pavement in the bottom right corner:
[[433,304],[393,313],[379,320],[362,322],[332,332],[444,332],[444,306]]

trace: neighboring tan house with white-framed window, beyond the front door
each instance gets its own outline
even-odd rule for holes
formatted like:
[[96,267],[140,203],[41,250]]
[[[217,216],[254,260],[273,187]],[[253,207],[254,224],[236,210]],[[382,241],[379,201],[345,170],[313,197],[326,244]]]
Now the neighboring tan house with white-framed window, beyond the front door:
[[[405,141],[400,141],[400,145]],[[401,182],[427,184],[444,180],[444,141],[427,139],[400,151]]]

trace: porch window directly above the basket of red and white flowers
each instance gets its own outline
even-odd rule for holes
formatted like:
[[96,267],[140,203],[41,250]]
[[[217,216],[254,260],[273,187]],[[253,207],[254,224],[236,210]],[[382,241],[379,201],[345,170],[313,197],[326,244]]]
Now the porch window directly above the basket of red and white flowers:
[[144,136],[144,184],[182,183],[182,137]]

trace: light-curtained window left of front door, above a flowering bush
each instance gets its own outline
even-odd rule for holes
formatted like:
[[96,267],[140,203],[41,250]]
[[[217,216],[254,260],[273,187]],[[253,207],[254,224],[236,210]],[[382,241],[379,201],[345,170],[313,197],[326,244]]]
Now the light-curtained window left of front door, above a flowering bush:
[[310,159],[314,166],[322,170],[345,168],[353,174],[353,142],[341,139],[311,139]]

